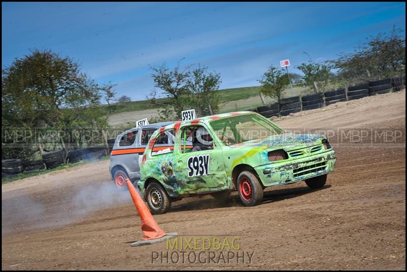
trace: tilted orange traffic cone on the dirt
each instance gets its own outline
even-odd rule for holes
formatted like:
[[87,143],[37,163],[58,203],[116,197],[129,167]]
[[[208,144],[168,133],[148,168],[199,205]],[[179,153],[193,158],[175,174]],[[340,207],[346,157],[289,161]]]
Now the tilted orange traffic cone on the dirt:
[[156,244],[166,239],[171,239],[178,236],[178,233],[175,232],[166,234],[164,231],[162,231],[157,222],[154,220],[154,217],[151,215],[146,203],[144,203],[144,201],[140,197],[140,194],[136,191],[137,189],[130,182],[130,179],[126,179],[126,184],[127,188],[129,188],[129,192],[131,198],[133,199],[134,205],[136,206],[138,215],[141,218],[141,230],[144,233],[144,237],[142,238],[142,240],[136,241],[135,243],[131,244],[131,246],[136,247]]

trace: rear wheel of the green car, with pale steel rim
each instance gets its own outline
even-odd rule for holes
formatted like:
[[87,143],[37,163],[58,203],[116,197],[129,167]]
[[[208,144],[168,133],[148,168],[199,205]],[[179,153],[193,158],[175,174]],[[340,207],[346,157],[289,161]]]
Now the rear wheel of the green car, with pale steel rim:
[[165,214],[171,207],[171,200],[167,192],[157,182],[153,182],[147,187],[146,199],[153,215]]

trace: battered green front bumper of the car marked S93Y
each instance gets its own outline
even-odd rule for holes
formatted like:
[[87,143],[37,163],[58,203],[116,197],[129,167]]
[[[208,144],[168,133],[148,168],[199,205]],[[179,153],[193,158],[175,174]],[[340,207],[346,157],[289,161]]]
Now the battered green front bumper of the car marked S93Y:
[[270,163],[254,167],[264,186],[295,183],[313,176],[332,172],[336,164],[335,151],[329,150],[289,162]]

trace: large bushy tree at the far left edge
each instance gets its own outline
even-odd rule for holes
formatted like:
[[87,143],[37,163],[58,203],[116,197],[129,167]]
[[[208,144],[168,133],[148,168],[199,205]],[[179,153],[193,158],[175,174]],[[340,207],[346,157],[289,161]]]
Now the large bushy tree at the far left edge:
[[[107,126],[108,116],[102,117],[105,111],[98,104],[104,98],[109,105],[113,84],[98,85],[71,58],[51,50],[31,51],[2,72],[2,130],[25,135],[22,140],[7,137],[3,158],[28,159],[42,148],[41,140],[44,148],[57,143],[66,151],[101,142],[101,136],[86,130]],[[50,129],[58,136],[52,143],[46,137]]]

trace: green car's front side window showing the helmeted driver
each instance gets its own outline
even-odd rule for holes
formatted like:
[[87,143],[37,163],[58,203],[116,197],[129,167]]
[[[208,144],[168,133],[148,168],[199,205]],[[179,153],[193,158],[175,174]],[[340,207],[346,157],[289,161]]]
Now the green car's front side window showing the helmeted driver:
[[182,153],[212,150],[214,147],[212,136],[205,127],[185,127],[182,129],[181,133]]

